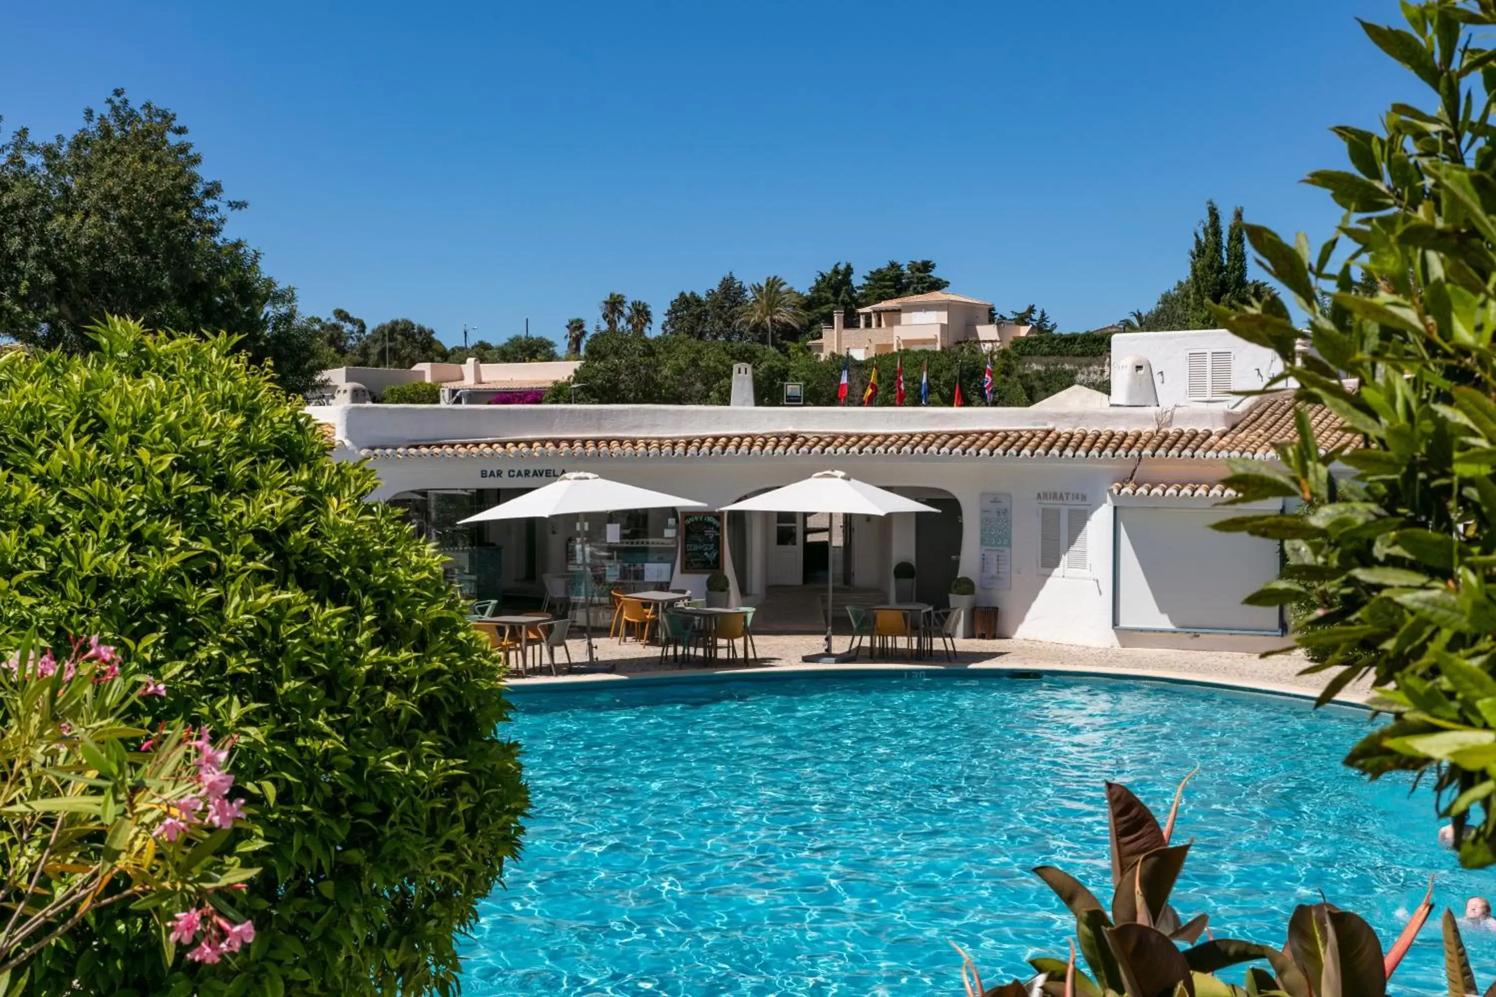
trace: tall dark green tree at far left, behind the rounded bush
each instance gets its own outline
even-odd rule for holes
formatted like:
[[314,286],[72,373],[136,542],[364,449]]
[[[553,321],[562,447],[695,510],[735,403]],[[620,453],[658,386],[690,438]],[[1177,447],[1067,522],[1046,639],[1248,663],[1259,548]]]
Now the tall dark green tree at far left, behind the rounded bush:
[[310,390],[314,324],[257,250],[224,236],[245,203],[203,178],[186,135],[171,111],[115,90],[70,136],[36,142],[19,129],[0,143],[0,336],[91,350],[91,323],[129,314],[230,332],[239,351],[274,362],[283,387]]

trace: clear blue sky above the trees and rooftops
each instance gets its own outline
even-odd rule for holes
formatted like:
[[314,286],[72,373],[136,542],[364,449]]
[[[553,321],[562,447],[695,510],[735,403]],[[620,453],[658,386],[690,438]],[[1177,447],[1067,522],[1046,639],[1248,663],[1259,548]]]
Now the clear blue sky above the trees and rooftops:
[[1355,16],[1397,6],[13,3],[0,115],[177,111],[305,309],[447,342],[889,259],[1073,330],[1182,277],[1207,197],[1328,233],[1327,127],[1427,103]]

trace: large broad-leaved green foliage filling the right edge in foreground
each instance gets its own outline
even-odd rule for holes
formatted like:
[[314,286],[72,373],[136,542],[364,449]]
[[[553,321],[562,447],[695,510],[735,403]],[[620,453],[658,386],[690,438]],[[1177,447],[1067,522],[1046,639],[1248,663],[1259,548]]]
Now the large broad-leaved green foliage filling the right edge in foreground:
[[[1406,28],[1363,22],[1372,42],[1430,90],[1432,111],[1394,103],[1381,133],[1342,126],[1351,170],[1315,170],[1345,212],[1318,250],[1246,226],[1258,263],[1308,315],[1278,297],[1237,305],[1222,321],[1272,347],[1275,386],[1324,405],[1334,442],[1297,413],[1297,439],[1276,465],[1233,462],[1239,502],[1302,504],[1219,529],[1281,540],[1279,578],[1255,605],[1308,604],[1300,646],[1337,670],[1324,703],[1370,677],[1378,716],[1346,764],[1372,777],[1433,773],[1439,813],[1460,862],[1496,862],[1496,25],[1487,0],[1406,3]],[[1349,257],[1336,253],[1348,245]],[[1363,278],[1358,281],[1355,269]],[[1375,291],[1370,274],[1376,281]],[[1328,291],[1328,309],[1318,297]],[[1291,378],[1291,380],[1290,380]],[[1354,386],[1354,387],[1352,387]],[[1360,445],[1345,444],[1354,433]],[[1343,474],[1354,472],[1352,477]],[[1477,809],[1478,807],[1478,809]],[[1432,836],[1430,836],[1432,837]],[[1451,993],[1454,993],[1451,984]]]

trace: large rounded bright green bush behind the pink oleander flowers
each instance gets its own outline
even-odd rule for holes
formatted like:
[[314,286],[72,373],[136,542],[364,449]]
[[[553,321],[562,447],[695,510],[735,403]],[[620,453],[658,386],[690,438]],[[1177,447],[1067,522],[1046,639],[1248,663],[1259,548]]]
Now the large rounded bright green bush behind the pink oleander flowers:
[[0,635],[118,635],[142,673],[175,665],[166,719],[238,735],[259,937],[168,975],[120,904],[42,952],[34,991],[455,991],[527,797],[440,558],[227,338],[94,335],[0,356]]

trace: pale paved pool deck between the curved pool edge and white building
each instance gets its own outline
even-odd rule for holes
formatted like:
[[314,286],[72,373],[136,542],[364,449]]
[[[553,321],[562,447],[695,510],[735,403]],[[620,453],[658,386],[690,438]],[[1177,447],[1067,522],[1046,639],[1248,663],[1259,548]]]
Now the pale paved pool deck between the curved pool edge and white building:
[[[1043,673],[1043,674],[1076,674],[1123,679],[1153,679],[1161,682],[1189,682],[1198,685],[1219,685],[1233,689],[1255,692],[1275,692],[1294,697],[1312,697],[1324,688],[1325,680],[1333,673],[1318,673],[1312,676],[1299,674],[1309,661],[1294,652],[1261,658],[1240,652],[1213,650],[1167,650],[1141,647],[1080,647],[1074,644],[1050,644],[1032,640],[960,640],[956,641],[957,655],[954,661],[947,661],[944,653],[936,650],[935,656],[922,661],[869,659],[863,655],[853,664],[821,665],[805,664],[802,656],[820,652],[821,638],[806,634],[763,634],[755,635],[754,643],[758,659],[752,664],[721,661],[715,667],[702,667],[700,662],[682,668],[666,661],[660,665],[660,650],[652,646],[637,643],[619,644],[613,638],[595,638],[597,670],[588,670],[586,650],[582,641],[570,641],[571,656],[576,671],[551,676],[549,667],[531,668],[528,677],[513,676],[510,686],[518,692],[522,689],[576,689],[597,686],[598,683],[630,683],[637,680],[660,680],[670,677],[757,677],[766,674],[826,674],[841,670],[847,671],[974,671],[974,673]],[[836,647],[845,647],[845,640],[838,638]],[[604,671],[603,668],[609,668]],[[1370,686],[1364,682],[1352,685],[1342,695],[1339,703],[1360,704],[1367,700]]]

